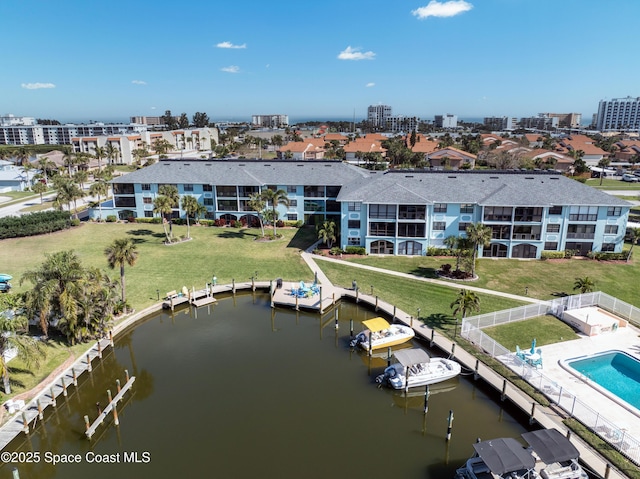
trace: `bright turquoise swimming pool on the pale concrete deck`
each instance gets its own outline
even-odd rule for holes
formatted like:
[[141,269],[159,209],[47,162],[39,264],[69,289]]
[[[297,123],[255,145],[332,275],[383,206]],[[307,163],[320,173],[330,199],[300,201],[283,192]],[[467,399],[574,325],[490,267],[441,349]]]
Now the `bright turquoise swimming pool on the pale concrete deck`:
[[623,351],[605,351],[568,360],[566,364],[579,372],[583,379],[604,389],[605,394],[609,392],[640,409],[640,361],[633,356]]

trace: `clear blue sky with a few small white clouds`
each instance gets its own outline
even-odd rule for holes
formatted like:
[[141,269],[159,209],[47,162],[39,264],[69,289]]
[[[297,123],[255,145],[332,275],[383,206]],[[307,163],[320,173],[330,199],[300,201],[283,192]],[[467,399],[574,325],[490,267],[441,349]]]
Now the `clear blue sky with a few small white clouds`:
[[0,114],[333,119],[640,96],[638,0],[1,1]]

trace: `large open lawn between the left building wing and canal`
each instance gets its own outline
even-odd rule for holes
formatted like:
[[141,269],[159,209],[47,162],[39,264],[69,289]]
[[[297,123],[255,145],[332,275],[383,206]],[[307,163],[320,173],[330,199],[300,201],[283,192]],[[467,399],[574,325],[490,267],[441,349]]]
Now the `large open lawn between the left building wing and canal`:
[[[174,236],[186,235],[186,226],[174,226]],[[313,274],[300,257],[300,250],[315,240],[313,228],[279,229],[282,240],[254,241],[258,229],[191,227],[193,240],[164,246],[162,225],[126,223],[86,223],[78,228],[45,236],[2,241],[2,271],[15,279],[14,290],[25,291],[20,277],[39,267],[45,252],[74,250],[85,266],[108,269],[104,249],[116,238],[133,239],[138,247],[138,261],[125,266],[127,300],[135,309],[157,301],[157,292],[187,286],[203,288],[215,275],[218,284],[249,281],[258,272],[258,280],[277,277],[309,280]],[[119,271],[109,271],[119,278]]]

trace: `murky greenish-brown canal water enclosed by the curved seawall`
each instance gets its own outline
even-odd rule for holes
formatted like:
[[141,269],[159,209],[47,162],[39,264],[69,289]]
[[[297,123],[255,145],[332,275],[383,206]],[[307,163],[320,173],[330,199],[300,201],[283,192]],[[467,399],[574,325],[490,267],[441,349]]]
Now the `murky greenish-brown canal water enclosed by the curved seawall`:
[[[9,445],[22,463],[0,478],[14,467],[22,479],[450,478],[477,438],[525,431],[472,375],[432,386],[426,415],[424,390],[378,388],[386,359],[349,347],[350,320],[357,333],[374,316],[342,303],[336,330],[334,312],[272,310],[262,293],[153,314]],[[84,416],[96,418],[125,369],[136,381],[120,425],[110,418],[88,441]]]

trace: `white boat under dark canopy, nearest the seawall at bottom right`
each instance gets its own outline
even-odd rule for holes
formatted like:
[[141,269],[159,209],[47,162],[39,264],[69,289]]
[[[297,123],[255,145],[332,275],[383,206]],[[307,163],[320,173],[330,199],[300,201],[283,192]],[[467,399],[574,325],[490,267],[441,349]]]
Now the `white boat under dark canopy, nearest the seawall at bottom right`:
[[538,459],[536,470],[542,479],[588,479],[578,463],[578,449],[557,429],[525,432],[522,437]]

